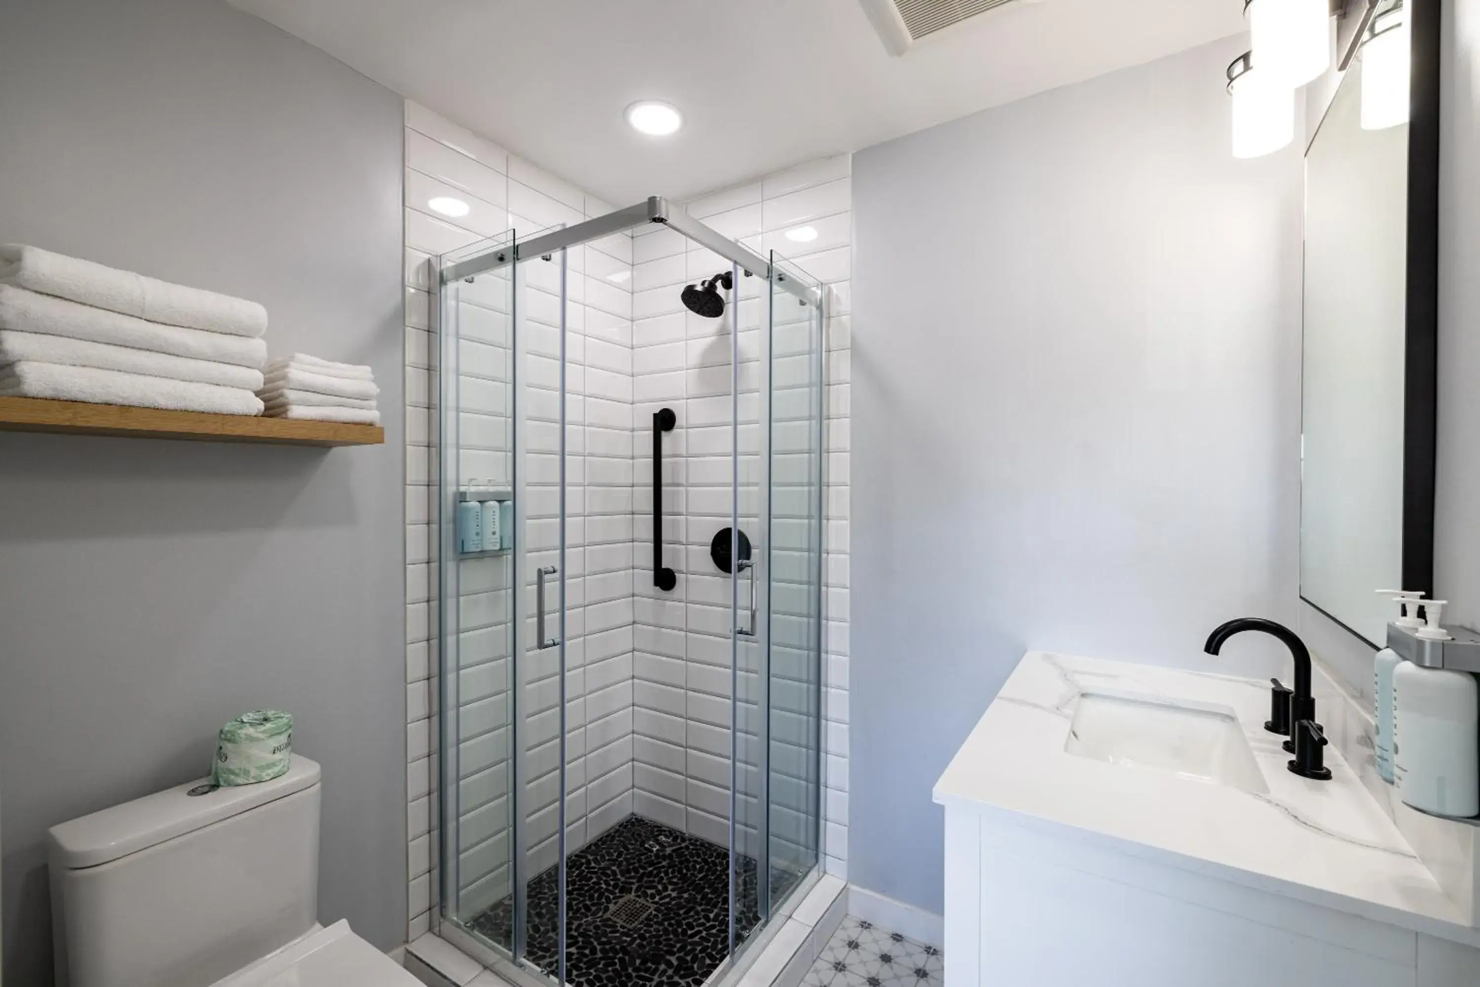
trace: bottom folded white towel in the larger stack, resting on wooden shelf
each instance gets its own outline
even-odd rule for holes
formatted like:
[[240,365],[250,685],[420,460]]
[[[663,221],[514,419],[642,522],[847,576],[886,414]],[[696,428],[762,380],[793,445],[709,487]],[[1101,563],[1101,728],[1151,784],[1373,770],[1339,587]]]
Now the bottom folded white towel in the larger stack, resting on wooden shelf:
[[262,401],[258,400],[258,395],[241,388],[145,377],[138,373],[99,370],[98,367],[31,363],[28,360],[0,370],[0,395],[86,401],[89,404],[130,404],[175,411],[262,414]]

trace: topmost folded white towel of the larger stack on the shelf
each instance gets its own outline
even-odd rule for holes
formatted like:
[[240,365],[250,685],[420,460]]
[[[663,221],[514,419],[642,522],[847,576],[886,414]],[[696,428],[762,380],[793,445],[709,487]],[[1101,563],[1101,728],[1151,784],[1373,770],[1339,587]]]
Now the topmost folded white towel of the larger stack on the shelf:
[[163,326],[258,337],[268,311],[256,302],[147,278],[25,244],[0,246],[0,284],[135,315]]

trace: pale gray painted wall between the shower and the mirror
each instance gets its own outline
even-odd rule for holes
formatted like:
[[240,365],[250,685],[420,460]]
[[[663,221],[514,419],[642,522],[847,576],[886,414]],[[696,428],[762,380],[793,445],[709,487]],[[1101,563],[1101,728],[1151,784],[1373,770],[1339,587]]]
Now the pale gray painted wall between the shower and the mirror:
[[1301,151],[1231,157],[1240,41],[854,158],[864,888],[941,910],[929,792],[1023,651],[1288,663],[1202,654],[1296,598]]

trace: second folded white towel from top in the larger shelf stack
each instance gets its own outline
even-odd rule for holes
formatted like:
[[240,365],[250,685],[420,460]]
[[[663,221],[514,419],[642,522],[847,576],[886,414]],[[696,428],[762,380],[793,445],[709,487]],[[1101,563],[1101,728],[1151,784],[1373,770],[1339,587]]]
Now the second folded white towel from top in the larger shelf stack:
[[10,284],[0,284],[0,329],[87,339],[95,343],[213,360],[253,370],[260,370],[268,355],[268,345],[260,339],[160,326]]

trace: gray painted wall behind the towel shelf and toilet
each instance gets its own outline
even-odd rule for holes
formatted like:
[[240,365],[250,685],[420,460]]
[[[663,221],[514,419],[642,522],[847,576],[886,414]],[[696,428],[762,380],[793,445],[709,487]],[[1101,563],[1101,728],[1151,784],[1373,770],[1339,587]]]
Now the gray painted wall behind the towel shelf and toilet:
[[256,706],[324,765],[320,917],[406,922],[401,101],[201,0],[22,0],[0,241],[243,294],[369,363],[385,447],[0,435],[4,974],[50,978],[46,829],[209,768]]

